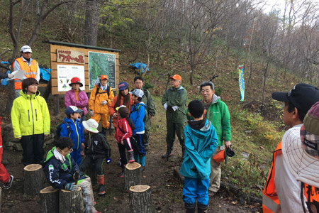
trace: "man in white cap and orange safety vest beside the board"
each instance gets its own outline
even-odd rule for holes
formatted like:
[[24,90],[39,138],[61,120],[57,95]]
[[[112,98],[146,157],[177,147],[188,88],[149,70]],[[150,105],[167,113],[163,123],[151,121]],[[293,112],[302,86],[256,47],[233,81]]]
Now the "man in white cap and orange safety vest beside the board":
[[[32,50],[30,46],[24,45],[21,50],[21,57],[16,58],[13,62],[13,70],[24,70],[23,79],[33,77],[39,82],[40,80],[40,68],[38,62],[31,58]],[[23,80],[22,79],[22,80]],[[19,97],[19,92],[22,89],[22,80],[14,79],[14,89],[16,90],[16,97]]]

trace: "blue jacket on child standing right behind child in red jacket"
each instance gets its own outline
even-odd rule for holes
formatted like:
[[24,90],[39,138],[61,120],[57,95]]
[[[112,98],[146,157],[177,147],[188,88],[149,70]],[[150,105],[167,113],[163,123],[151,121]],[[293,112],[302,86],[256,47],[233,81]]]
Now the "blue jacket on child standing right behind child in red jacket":
[[134,104],[130,109],[130,119],[133,121],[135,129],[132,131],[133,136],[145,132],[144,118],[146,115],[146,105],[143,102]]

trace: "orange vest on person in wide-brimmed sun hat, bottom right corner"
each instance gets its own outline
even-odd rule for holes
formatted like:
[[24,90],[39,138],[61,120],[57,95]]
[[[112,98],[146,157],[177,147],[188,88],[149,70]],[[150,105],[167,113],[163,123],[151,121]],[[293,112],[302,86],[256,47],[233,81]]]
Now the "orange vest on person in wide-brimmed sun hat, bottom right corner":
[[303,183],[306,204],[310,213],[319,212],[319,188]]

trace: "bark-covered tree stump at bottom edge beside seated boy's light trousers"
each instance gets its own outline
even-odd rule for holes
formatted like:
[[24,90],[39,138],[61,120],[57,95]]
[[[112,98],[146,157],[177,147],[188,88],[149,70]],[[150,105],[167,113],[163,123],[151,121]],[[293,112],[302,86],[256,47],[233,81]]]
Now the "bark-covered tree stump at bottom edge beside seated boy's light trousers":
[[85,206],[82,198],[82,189],[77,191],[60,190],[59,192],[59,212],[74,213],[84,212]]

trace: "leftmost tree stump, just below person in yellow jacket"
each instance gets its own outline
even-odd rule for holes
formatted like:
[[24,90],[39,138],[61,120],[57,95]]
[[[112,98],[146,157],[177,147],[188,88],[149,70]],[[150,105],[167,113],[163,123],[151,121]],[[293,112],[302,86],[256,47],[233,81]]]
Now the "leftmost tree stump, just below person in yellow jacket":
[[23,193],[26,195],[38,195],[43,188],[42,165],[26,165],[24,170]]

